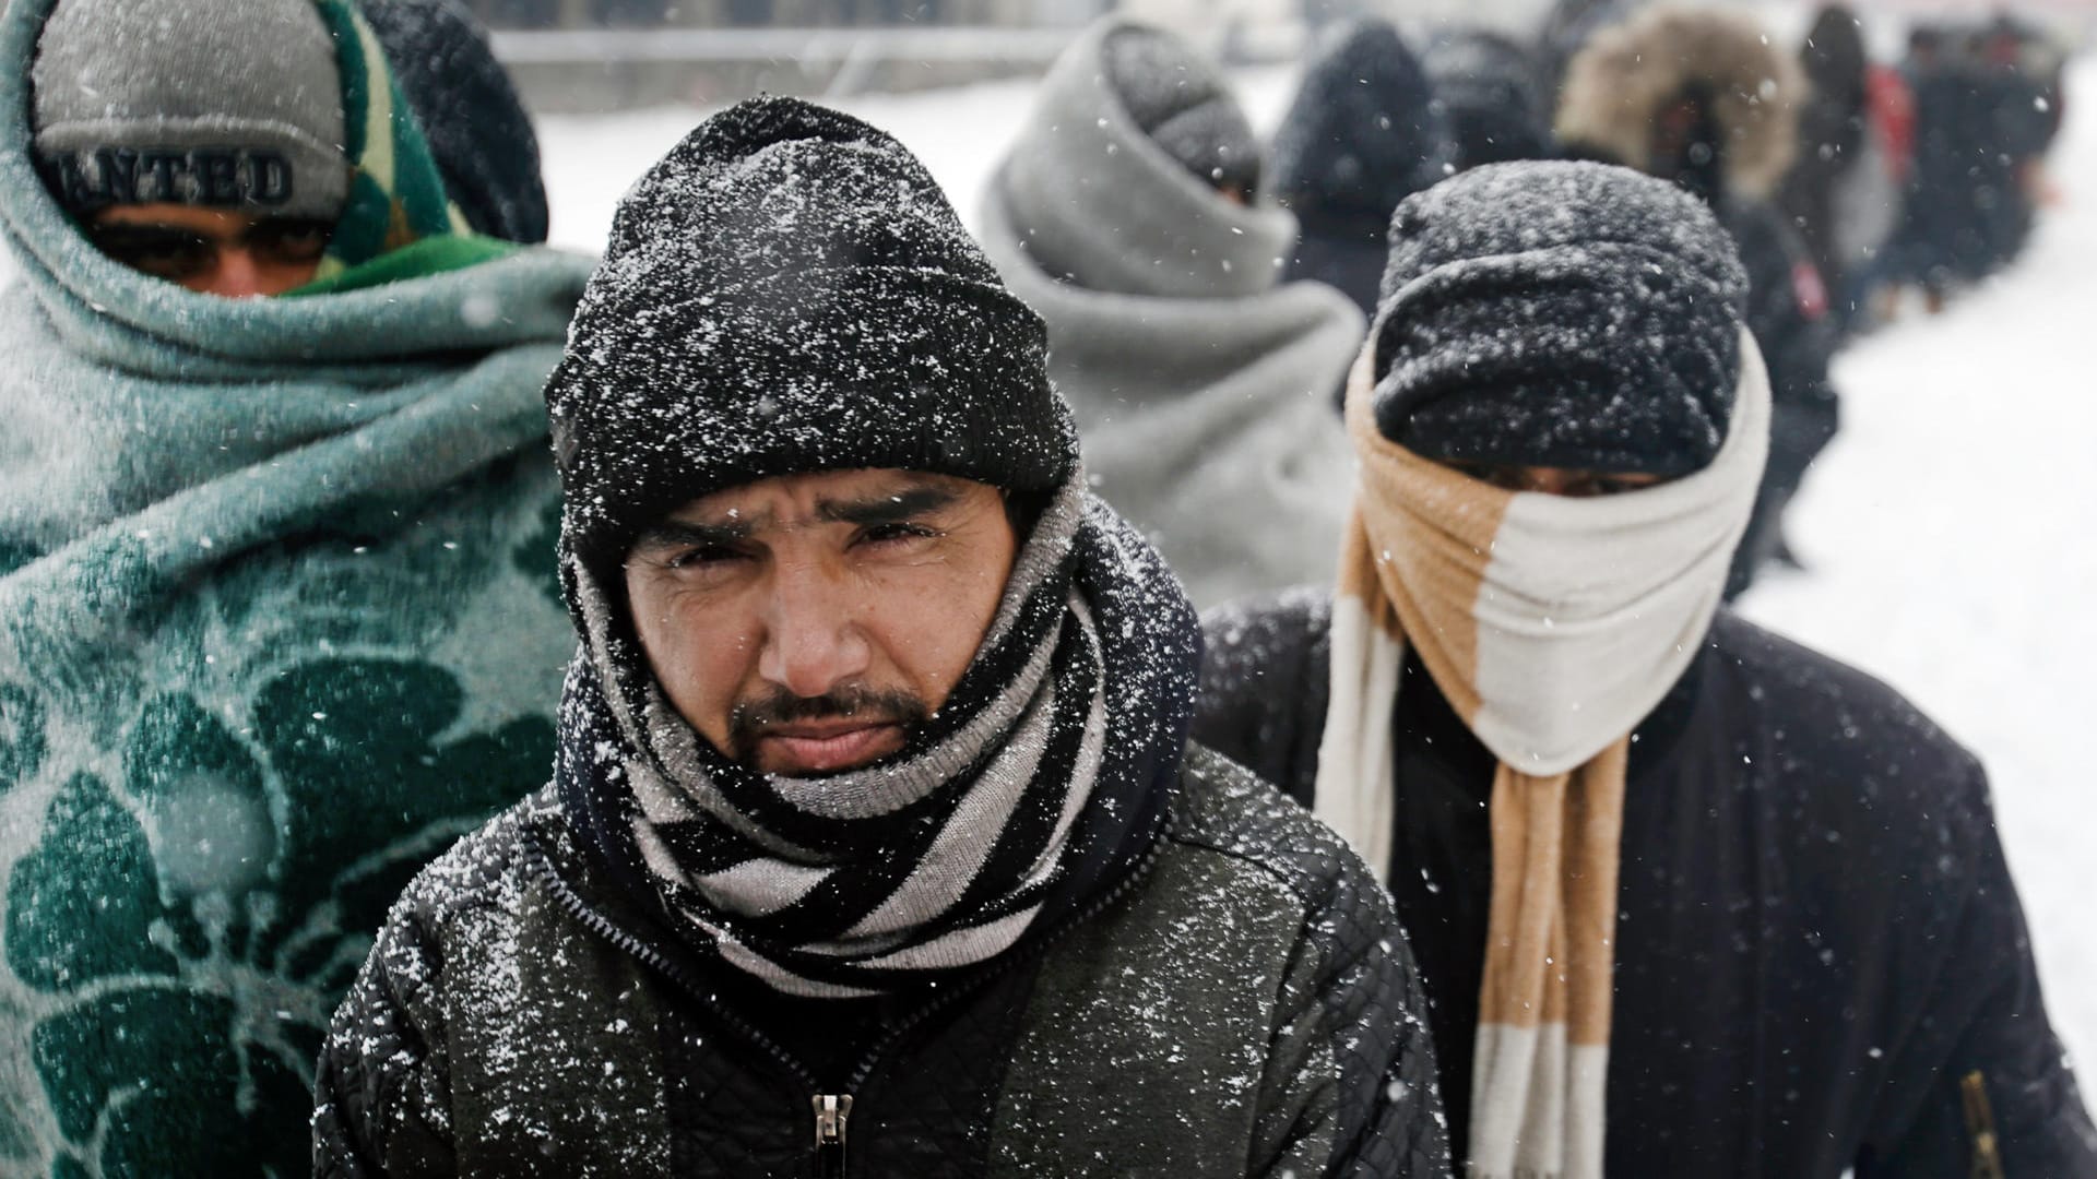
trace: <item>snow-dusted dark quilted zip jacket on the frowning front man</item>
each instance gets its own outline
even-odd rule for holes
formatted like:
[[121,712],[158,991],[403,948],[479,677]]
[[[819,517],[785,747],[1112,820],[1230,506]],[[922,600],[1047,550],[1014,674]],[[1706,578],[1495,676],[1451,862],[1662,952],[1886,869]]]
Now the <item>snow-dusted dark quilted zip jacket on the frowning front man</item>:
[[317,1175],[1443,1175],[1384,892],[1189,747],[1143,866],[958,982],[788,1001],[700,965],[552,793],[409,887],[321,1059]]

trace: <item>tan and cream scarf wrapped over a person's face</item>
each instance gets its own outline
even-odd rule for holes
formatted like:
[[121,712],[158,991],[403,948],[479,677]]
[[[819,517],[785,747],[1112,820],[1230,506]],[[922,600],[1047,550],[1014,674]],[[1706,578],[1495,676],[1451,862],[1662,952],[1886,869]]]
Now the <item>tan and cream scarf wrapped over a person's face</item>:
[[[1371,342],[1374,348],[1374,342]],[[1470,1175],[1602,1175],[1617,856],[1629,734],[1711,625],[1770,443],[1753,340],[1705,470],[1596,499],[1512,493],[1384,438],[1369,350],[1332,610],[1317,816],[1384,877],[1405,644],[1499,759]]]

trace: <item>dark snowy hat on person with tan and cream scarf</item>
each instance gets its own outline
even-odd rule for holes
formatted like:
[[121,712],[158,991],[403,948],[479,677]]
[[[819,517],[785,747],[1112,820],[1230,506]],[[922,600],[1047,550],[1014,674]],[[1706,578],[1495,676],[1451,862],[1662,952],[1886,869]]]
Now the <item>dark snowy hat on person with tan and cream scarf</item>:
[[1747,275],[1688,193],[1491,164],[1399,206],[1376,424],[1432,459],[1678,476],[1726,441]]

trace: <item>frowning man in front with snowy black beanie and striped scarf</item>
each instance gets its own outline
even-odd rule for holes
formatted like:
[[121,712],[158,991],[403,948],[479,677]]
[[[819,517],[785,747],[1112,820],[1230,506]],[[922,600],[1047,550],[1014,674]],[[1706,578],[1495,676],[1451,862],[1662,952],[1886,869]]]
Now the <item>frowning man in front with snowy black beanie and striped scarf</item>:
[[621,201],[547,386],[554,783],[392,910],[319,1175],[1443,1175],[1390,902],[1187,743],[1040,319],[791,99]]

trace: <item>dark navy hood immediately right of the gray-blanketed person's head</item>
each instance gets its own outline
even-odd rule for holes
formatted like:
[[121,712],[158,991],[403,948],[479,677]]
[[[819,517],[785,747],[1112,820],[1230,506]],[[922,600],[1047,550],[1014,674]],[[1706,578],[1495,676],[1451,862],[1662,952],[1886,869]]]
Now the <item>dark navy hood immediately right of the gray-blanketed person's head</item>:
[[1298,216],[1365,216],[1376,233],[1399,201],[1447,172],[1449,132],[1432,99],[1397,27],[1340,25],[1275,132],[1275,195]]

